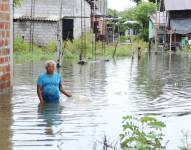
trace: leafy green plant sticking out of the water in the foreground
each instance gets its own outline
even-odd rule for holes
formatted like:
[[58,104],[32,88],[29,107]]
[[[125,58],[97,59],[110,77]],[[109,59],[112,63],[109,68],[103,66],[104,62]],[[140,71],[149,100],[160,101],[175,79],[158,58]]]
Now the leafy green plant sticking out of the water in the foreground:
[[125,150],[157,150],[162,145],[165,124],[153,117],[123,117],[121,147]]

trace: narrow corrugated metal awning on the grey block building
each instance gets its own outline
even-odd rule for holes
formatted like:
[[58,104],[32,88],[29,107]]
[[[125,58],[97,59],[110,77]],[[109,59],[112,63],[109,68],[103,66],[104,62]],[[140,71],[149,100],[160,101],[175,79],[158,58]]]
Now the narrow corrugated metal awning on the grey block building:
[[25,16],[25,15],[14,15],[14,19],[19,20],[36,20],[36,21],[58,21],[59,16]]

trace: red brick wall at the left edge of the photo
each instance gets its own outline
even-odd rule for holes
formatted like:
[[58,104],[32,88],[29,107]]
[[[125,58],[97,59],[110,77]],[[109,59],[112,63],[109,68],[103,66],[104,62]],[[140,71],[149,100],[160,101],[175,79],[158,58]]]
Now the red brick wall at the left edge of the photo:
[[0,0],[0,94],[11,86],[9,0]]

